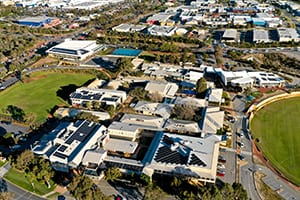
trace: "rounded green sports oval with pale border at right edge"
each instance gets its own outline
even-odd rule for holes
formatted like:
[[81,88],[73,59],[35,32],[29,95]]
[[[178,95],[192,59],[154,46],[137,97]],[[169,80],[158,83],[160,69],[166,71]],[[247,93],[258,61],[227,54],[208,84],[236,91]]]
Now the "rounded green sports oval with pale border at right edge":
[[251,131],[264,156],[285,177],[300,185],[300,97],[274,102],[259,110]]

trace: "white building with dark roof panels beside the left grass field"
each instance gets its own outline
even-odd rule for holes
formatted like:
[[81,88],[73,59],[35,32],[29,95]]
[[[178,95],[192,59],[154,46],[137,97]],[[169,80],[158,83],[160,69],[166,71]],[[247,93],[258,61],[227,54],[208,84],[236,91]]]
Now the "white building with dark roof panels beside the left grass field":
[[99,102],[116,107],[127,98],[121,90],[98,89],[81,87],[70,94],[72,105],[86,106],[87,102]]

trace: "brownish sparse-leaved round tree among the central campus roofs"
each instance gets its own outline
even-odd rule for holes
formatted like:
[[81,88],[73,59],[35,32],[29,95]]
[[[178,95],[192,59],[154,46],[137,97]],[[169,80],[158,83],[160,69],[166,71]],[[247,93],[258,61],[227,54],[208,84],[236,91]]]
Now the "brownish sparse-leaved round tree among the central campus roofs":
[[173,107],[172,115],[177,119],[193,120],[193,118],[195,116],[195,110],[192,106],[189,106],[189,105],[176,104]]

